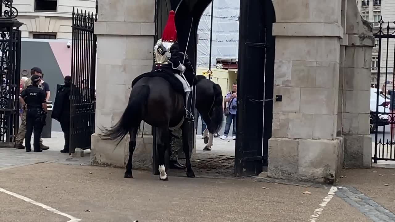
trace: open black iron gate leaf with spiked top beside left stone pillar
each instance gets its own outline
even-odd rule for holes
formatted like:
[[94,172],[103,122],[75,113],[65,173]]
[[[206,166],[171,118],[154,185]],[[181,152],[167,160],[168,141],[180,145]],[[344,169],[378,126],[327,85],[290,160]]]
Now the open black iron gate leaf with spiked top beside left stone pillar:
[[96,35],[97,15],[87,11],[72,13],[70,153],[75,148],[90,149],[95,130]]

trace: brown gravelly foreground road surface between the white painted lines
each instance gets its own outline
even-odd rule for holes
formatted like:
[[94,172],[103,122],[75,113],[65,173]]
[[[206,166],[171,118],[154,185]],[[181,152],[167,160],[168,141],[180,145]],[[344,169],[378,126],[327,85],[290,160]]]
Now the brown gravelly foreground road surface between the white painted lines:
[[[81,222],[301,222],[317,215],[325,222],[371,221],[337,196],[326,199],[324,188],[174,176],[163,182],[149,172],[134,171],[134,179],[123,173],[63,164],[0,170],[0,188],[22,196],[0,192],[0,221],[79,221],[54,210]],[[330,202],[322,207],[325,200]]]

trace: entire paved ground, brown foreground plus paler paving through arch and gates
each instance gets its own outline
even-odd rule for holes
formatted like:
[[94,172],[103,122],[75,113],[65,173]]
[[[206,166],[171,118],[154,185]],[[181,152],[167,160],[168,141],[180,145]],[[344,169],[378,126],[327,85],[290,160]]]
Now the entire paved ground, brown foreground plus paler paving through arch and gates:
[[[200,177],[170,171],[163,182],[135,170],[125,179],[124,169],[88,166],[89,151],[82,158],[61,154],[62,137],[44,139],[51,149],[42,153],[0,148],[1,222],[395,221],[395,169],[344,170],[338,186],[210,179],[207,168],[216,171],[225,159],[233,170],[234,141],[216,138],[213,151],[199,149],[198,139],[193,164]],[[218,158],[224,163],[215,165]]]

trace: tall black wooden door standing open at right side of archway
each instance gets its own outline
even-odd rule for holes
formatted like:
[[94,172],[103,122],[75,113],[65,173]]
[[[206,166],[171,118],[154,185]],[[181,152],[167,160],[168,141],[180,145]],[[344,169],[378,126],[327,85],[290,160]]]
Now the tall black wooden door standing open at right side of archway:
[[[265,134],[269,131],[271,134],[273,118],[272,115],[265,115],[263,120],[263,107],[273,104],[270,98],[273,98],[274,56],[267,57],[266,60],[265,57],[270,47],[274,46],[274,42],[270,41],[273,15],[271,1],[240,2],[236,177],[258,175],[263,165],[267,164],[267,140],[270,135]],[[271,50],[274,50],[274,47]],[[268,76],[267,89],[265,75]],[[265,98],[269,100],[265,101]],[[271,107],[269,109],[271,111]],[[270,113],[265,112],[265,114]],[[269,131],[267,131],[269,127],[265,127],[264,123],[270,125]],[[266,129],[265,132],[263,128]]]

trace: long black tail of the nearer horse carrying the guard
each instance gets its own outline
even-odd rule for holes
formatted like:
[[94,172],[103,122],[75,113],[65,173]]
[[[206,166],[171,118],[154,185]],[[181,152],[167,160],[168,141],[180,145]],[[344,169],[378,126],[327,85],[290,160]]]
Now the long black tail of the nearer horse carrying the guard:
[[[132,127],[139,127],[141,120],[143,120],[143,112],[148,100],[150,88],[148,85],[142,85],[134,88],[130,92],[129,103],[126,107],[122,117],[111,128],[101,129],[103,134],[99,134],[104,140],[119,139],[117,145],[128,134]],[[132,95],[133,93],[133,95]]]

